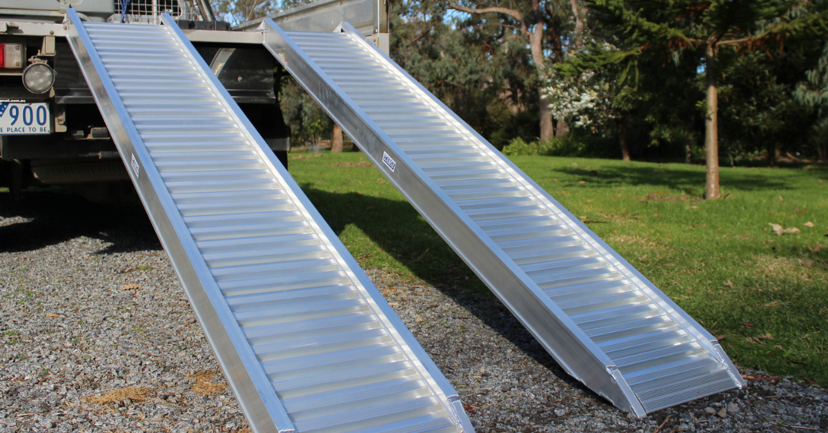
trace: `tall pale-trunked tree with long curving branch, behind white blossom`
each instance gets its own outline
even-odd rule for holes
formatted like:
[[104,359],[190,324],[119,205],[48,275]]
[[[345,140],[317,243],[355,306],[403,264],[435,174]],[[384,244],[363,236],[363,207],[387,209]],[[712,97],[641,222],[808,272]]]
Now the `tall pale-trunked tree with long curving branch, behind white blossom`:
[[[452,3],[451,7],[461,12],[471,14],[495,13],[503,19],[503,26],[517,29],[517,32],[529,46],[532,55],[532,66],[537,79],[542,80],[542,72],[546,66],[546,51],[551,52],[551,60],[561,61],[565,51],[566,41],[573,44],[580,43],[580,32],[584,29],[583,11],[578,7],[576,0],[564,2],[562,0],[511,0],[503,2],[507,6],[477,7],[474,2],[469,6]],[[575,27],[570,35],[566,29],[569,20],[564,18],[568,10],[575,13]],[[572,36],[567,37],[567,36]],[[546,42],[546,44],[545,44]],[[549,95],[539,92],[540,138],[549,140],[555,135],[552,123]],[[566,123],[562,120],[558,124],[559,135],[566,135]]]

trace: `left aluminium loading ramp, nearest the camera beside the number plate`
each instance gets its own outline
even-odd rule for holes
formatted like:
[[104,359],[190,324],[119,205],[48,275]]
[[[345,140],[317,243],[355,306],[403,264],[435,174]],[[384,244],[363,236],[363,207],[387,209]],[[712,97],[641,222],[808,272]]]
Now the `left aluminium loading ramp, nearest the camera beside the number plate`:
[[455,390],[181,30],[69,41],[256,432],[471,432]]

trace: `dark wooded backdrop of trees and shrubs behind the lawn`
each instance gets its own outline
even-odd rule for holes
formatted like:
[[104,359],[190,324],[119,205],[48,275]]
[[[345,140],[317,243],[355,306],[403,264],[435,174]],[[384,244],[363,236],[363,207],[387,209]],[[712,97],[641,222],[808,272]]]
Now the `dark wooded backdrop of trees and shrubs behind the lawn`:
[[[305,2],[214,0],[214,7],[224,19],[239,23]],[[514,17],[455,9],[512,8],[529,22],[536,3],[543,23],[543,68],[532,60],[522,24]],[[639,15],[657,20],[670,7],[701,10],[717,1],[615,3],[640,7]],[[826,0],[745,4],[744,10],[755,9],[757,17],[768,12],[762,8],[787,11],[776,22],[753,24],[761,28],[828,9]],[[563,132],[578,142],[582,155],[619,157],[622,141],[634,159],[697,161],[704,155],[703,56],[655,36],[648,41],[649,36],[637,33],[637,39],[625,39],[622,24],[595,1],[399,0],[391,8],[392,58],[498,149],[515,140],[516,147],[538,141],[539,97],[546,93],[553,96],[556,121],[566,123]],[[580,30],[575,10],[580,11]],[[749,13],[742,18],[750,19]],[[826,24],[818,22],[802,35],[788,32],[778,41],[720,53],[723,165],[762,156],[775,163],[768,154],[788,161],[828,159],[826,41]],[[628,62],[612,60],[630,50],[637,54]],[[590,56],[603,60],[584,63]],[[283,78],[282,89],[294,142],[330,138],[330,119],[290,77]],[[557,133],[557,138],[564,135]]]

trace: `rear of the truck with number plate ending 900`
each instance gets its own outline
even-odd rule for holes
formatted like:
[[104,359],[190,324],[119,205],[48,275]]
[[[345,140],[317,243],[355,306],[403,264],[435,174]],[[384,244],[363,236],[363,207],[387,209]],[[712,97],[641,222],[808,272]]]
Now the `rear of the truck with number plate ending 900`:
[[[250,33],[229,31],[208,0],[4,0],[0,6],[0,186],[65,185],[89,200],[132,189],[62,24],[157,24],[168,13],[286,165],[290,128],[277,101],[281,67]],[[163,53],[158,53],[163,56]]]

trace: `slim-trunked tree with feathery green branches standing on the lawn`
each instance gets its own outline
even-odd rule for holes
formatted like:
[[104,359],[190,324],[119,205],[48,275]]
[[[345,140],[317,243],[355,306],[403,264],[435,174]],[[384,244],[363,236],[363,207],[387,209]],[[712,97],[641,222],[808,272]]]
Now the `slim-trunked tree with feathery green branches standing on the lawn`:
[[[779,0],[589,0],[599,21],[618,27],[628,51],[615,61],[634,61],[644,51],[678,59],[695,51],[705,73],[705,198],[720,196],[719,81],[723,50],[782,48],[785,36],[826,26],[828,13],[791,18],[796,2]],[[769,52],[769,51],[768,51]]]

